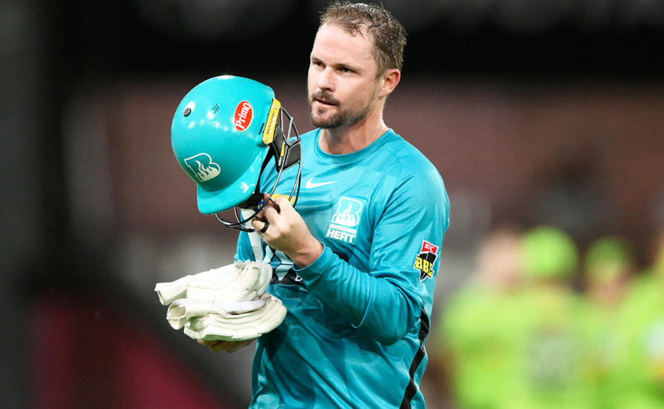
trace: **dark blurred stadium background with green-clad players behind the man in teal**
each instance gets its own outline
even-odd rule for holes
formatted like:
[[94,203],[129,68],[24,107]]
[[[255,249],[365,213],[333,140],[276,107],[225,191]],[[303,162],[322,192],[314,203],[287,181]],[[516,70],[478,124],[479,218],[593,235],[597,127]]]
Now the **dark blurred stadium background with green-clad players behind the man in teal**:
[[[154,293],[236,237],[196,210],[170,123],[234,74],[310,130],[326,3],[0,2],[2,408],[248,405],[252,348],[212,354]],[[664,3],[383,3],[409,33],[387,125],[452,202],[427,404],[662,407]]]

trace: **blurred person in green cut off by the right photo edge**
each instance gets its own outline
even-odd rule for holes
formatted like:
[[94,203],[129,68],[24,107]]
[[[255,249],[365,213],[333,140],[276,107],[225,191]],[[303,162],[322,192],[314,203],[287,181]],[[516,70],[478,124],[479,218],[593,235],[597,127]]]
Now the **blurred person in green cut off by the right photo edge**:
[[620,317],[627,349],[616,408],[664,408],[664,235],[652,264],[631,283]]

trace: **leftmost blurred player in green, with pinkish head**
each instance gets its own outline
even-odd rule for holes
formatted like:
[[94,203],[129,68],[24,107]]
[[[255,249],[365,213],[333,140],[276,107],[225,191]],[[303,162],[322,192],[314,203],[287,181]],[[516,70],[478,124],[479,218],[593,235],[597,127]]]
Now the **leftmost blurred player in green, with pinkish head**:
[[514,294],[522,286],[521,232],[492,231],[476,253],[475,271],[444,305],[436,340],[438,361],[448,365],[454,403],[466,409],[498,408],[503,380],[513,368],[519,333]]

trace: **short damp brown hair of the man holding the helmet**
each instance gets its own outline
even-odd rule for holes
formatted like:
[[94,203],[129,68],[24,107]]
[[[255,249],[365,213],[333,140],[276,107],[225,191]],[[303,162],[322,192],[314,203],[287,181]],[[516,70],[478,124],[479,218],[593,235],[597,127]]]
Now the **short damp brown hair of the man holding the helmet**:
[[378,74],[403,66],[406,30],[382,6],[335,1],[320,16],[320,26],[336,24],[349,33],[365,33],[374,39],[374,58]]

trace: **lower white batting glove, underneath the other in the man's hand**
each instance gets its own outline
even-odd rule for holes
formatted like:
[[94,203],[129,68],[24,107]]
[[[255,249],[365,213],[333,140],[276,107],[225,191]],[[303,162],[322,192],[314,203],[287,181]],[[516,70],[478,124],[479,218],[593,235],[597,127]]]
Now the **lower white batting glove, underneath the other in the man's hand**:
[[240,341],[258,338],[278,327],[286,318],[286,307],[279,298],[265,293],[263,307],[246,313],[210,311],[187,321],[185,334],[196,340]]

